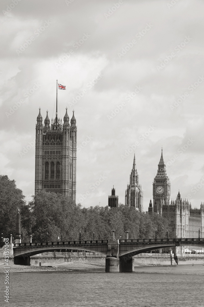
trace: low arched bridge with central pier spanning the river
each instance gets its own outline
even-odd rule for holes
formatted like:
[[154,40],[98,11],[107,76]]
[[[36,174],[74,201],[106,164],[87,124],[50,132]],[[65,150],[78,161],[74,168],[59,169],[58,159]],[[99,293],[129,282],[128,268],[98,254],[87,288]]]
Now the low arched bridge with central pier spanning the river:
[[[154,249],[178,246],[198,246],[204,248],[204,238],[14,243],[12,244],[12,249],[14,264],[30,265],[30,257],[33,255],[54,250],[74,249],[105,255],[106,272],[132,272],[134,271],[133,256]],[[176,257],[174,255],[175,260]]]

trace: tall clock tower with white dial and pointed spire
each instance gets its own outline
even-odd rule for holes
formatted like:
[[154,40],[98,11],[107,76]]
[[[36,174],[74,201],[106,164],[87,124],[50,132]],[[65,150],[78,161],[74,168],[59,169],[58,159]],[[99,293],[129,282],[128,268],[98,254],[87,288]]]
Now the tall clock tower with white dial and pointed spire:
[[159,214],[162,214],[161,200],[164,200],[164,204],[169,203],[170,200],[170,180],[166,174],[162,149],[157,175],[153,181],[153,211]]

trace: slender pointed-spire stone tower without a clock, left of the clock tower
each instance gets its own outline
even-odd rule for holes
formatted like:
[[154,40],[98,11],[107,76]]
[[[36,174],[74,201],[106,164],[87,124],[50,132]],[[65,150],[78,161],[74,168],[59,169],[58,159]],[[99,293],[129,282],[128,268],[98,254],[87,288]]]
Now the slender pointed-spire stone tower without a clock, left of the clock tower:
[[133,167],[130,174],[130,183],[125,190],[125,204],[129,207],[135,207],[140,212],[143,211],[143,191],[139,184],[139,175],[136,169],[135,154],[133,160]]

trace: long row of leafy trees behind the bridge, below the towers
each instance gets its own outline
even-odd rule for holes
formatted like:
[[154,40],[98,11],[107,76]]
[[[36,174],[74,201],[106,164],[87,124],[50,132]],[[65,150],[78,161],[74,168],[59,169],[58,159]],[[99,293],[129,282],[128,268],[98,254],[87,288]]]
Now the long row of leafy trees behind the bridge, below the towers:
[[63,241],[93,239],[111,239],[115,230],[116,239],[153,239],[157,229],[157,238],[175,237],[168,221],[155,213],[138,212],[135,208],[119,204],[117,208],[82,208],[69,197],[59,193],[42,190],[32,201],[26,204],[25,197],[16,187],[14,180],[0,175],[0,232],[4,237],[16,232],[17,209],[20,209],[22,242]]

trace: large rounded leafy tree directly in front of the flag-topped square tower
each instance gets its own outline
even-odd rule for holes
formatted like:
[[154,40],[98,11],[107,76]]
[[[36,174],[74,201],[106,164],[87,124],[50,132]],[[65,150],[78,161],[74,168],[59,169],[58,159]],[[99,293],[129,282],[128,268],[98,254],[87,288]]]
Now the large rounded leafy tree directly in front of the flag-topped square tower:
[[29,202],[32,221],[33,240],[45,241],[48,232],[49,241],[57,241],[63,234],[63,240],[76,239],[79,236],[83,214],[80,205],[76,205],[69,197],[44,190],[33,196]]

